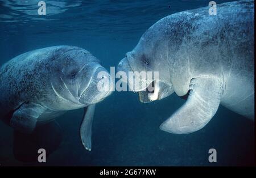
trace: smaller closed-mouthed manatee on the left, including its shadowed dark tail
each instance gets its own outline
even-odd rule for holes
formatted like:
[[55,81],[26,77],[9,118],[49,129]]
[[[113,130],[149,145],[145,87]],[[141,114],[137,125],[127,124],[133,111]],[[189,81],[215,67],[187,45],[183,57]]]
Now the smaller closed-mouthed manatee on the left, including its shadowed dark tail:
[[[16,157],[26,160],[28,152],[38,154],[40,147],[47,147],[47,154],[55,150],[61,134],[54,119],[79,108],[84,108],[81,141],[85,149],[91,150],[95,104],[109,96],[113,86],[102,82],[103,79],[110,81],[110,75],[100,61],[76,46],[36,49],[3,64],[0,116],[15,130]],[[49,143],[53,149],[48,147]]]

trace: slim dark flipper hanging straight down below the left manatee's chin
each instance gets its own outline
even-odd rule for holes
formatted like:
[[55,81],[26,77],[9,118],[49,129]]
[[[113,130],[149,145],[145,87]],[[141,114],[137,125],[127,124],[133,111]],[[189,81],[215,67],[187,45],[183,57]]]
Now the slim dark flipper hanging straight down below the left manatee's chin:
[[94,110],[95,104],[84,108],[84,118],[80,127],[82,145],[84,145],[85,149],[89,151],[92,150],[92,122]]

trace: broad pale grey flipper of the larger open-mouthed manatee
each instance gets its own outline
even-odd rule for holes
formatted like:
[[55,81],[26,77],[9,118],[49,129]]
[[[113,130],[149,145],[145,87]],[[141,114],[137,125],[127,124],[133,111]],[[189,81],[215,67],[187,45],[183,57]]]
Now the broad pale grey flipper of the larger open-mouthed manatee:
[[169,133],[192,133],[203,128],[215,115],[222,96],[217,78],[200,77],[191,80],[185,104],[160,125]]

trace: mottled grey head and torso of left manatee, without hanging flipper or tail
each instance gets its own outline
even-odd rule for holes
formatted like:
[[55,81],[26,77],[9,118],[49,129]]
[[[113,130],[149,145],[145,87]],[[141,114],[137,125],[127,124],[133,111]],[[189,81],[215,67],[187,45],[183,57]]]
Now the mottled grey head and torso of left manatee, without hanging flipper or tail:
[[[98,78],[100,71],[105,72]],[[108,71],[88,51],[52,46],[21,54],[0,69],[0,116],[31,133],[65,111],[85,108],[110,95],[98,91]],[[94,110],[93,110],[94,111]]]

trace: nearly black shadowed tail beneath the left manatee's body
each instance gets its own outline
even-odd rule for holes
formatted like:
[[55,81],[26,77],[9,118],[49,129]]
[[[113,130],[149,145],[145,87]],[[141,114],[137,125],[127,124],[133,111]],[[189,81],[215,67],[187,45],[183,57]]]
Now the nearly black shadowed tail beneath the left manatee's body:
[[14,157],[22,162],[37,162],[39,149],[46,150],[46,156],[49,156],[61,141],[61,128],[56,121],[39,126],[31,134],[14,130]]

